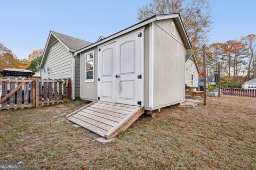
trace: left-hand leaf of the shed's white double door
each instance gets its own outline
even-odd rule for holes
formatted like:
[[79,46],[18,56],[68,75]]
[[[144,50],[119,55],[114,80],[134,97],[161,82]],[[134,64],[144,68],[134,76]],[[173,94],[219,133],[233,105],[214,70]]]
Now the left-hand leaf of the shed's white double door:
[[99,100],[116,102],[116,43],[100,48],[99,52]]

